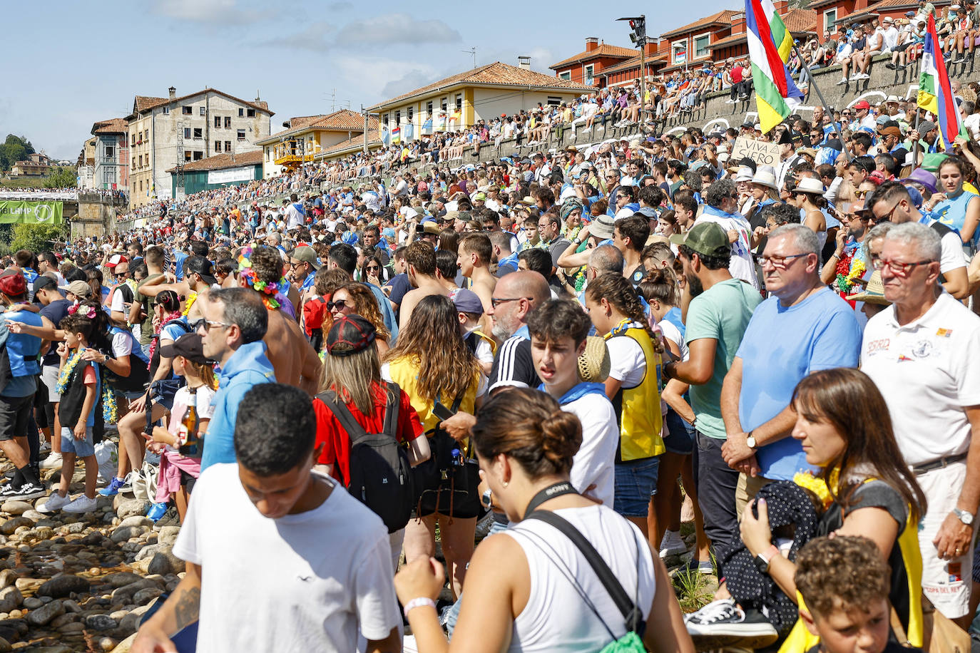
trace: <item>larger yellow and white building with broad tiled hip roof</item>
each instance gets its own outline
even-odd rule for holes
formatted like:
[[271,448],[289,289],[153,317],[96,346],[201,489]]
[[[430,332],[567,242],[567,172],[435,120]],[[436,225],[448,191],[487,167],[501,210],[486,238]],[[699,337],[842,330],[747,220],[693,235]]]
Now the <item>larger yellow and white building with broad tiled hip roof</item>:
[[[530,69],[527,58],[520,66],[495,62],[466,70],[414,91],[374,105],[368,111],[380,116],[380,128],[403,140],[416,140],[439,131],[460,131],[478,120],[489,122],[502,114],[530,111],[542,105],[558,105],[595,86],[585,86]],[[431,120],[431,121],[430,121]]]

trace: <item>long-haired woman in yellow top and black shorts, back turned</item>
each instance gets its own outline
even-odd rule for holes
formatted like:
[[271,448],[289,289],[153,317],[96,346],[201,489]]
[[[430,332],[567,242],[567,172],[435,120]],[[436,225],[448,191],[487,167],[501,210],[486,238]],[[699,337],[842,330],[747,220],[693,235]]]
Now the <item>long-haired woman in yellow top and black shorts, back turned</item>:
[[449,481],[441,481],[440,467],[450,458],[458,459],[460,454],[452,456],[453,449],[463,451],[467,443],[458,443],[439,427],[441,415],[454,410],[475,413],[482,404],[485,377],[460,333],[456,305],[441,295],[423,297],[417,303],[398,334],[396,347],[385,354],[384,361],[382,378],[394,381],[408,394],[429,438],[433,458],[419,466],[422,475],[417,480],[422,487],[416,488],[419,500],[415,519],[405,531],[405,559],[411,564],[434,555],[438,525],[456,598],[463,591],[466,565],[473,554],[479,500],[473,501],[473,496],[456,490]]

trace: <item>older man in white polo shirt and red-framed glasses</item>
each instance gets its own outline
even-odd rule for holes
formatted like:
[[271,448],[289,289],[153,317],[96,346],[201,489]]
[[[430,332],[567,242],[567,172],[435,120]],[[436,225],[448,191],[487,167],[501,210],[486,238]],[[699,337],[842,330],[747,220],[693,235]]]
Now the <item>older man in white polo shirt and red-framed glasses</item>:
[[875,267],[892,305],[864,328],[861,369],[885,396],[928,499],[919,524],[922,590],[965,629],[980,501],[980,317],[940,287],[940,240],[914,222],[885,236]]

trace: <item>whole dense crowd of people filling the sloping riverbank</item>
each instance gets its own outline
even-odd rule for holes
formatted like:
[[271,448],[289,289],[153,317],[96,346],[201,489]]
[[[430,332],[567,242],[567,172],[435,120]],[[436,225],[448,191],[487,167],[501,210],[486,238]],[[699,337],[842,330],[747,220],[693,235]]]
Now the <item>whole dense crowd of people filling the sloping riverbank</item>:
[[[696,106],[685,89],[751,93],[718,68],[655,86],[651,117]],[[976,88],[954,90],[972,134]],[[966,636],[975,138],[943,151],[935,117],[893,98],[764,134],[541,147],[645,121],[635,92],[0,261],[0,495],[86,514],[155,489],[146,515],[181,526],[187,571],[139,652]],[[529,156],[455,163],[518,130]],[[738,138],[779,161],[733,158]],[[722,581],[689,614],[678,556],[675,576]]]

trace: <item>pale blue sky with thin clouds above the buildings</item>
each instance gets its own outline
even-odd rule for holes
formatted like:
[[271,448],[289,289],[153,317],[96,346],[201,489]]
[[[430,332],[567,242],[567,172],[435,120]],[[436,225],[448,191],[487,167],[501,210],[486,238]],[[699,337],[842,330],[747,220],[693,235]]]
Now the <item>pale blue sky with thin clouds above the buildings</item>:
[[[134,95],[183,95],[205,86],[292,116],[359,111],[472,67],[531,57],[534,70],[584,49],[585,37],[631,45],[621,16],[647,15],[660,34],[738,0],[651,3],[390,0],[95,0],[5,2],[6,61],[0,138],[25,135],[74,160],[92,123],[123,117]],[[601,14],[596,11],[601,7]],[[557,13],[563,18],[555,20]],[[25,62],[24,67],[17,62]]]

